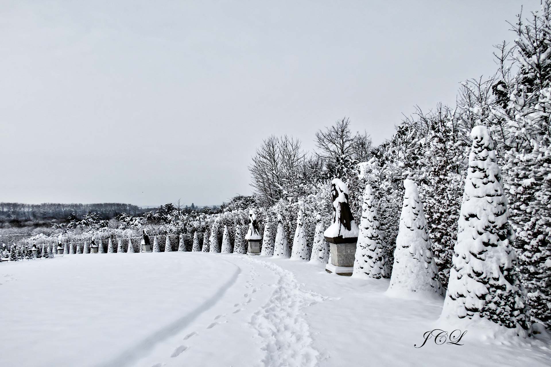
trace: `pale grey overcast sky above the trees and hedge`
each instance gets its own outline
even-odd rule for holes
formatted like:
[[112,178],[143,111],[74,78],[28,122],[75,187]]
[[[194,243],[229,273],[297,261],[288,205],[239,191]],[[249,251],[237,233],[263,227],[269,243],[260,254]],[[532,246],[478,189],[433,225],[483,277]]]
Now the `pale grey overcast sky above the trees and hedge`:
[[539,0],[0,2],[0,201],[219,204],[270,134],[375,143]]

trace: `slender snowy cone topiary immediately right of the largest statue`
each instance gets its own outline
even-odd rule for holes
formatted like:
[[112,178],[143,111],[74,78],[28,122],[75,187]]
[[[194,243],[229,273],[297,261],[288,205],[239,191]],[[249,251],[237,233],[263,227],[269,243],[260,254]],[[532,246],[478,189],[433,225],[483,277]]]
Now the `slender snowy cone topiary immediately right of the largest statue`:
[[384,249],[385,243],[382,238],[379,217],[377,217],[375,195],[373,195],[371,185],[368,184],[365,185],[364,203],[361,207],[360,232],[352,276],[380,279],[385,266]]

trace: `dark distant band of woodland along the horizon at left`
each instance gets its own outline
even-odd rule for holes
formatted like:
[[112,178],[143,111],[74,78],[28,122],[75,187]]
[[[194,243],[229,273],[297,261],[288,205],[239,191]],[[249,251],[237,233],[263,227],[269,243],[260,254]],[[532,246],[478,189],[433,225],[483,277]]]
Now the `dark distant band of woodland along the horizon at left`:
[[63,222],[74,213],[82,219],[87,212],[95,212],[102,219],[111,219],[118,214],[142,214],[152,209],[142,209],[136,205],[123,203],[98,204],[23,204],[0,203],[0,226],[47,225],[53,222]]

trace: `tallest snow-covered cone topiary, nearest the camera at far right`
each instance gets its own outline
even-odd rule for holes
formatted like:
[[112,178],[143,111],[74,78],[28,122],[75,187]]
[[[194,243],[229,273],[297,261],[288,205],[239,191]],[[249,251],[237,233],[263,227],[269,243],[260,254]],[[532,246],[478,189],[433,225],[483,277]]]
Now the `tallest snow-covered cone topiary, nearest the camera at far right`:
[[526,336],[509,212],[488,128],[476,126],[442,319],[488,319]]

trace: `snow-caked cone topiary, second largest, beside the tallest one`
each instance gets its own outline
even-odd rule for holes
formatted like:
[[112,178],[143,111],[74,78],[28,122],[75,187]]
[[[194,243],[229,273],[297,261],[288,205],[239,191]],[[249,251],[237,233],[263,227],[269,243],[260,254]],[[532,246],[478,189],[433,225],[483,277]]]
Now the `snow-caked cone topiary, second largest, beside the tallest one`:
[[404,188],[394,266],[387,294],[406,297],[422,293],[442,295],[417,185],[406,179]]

